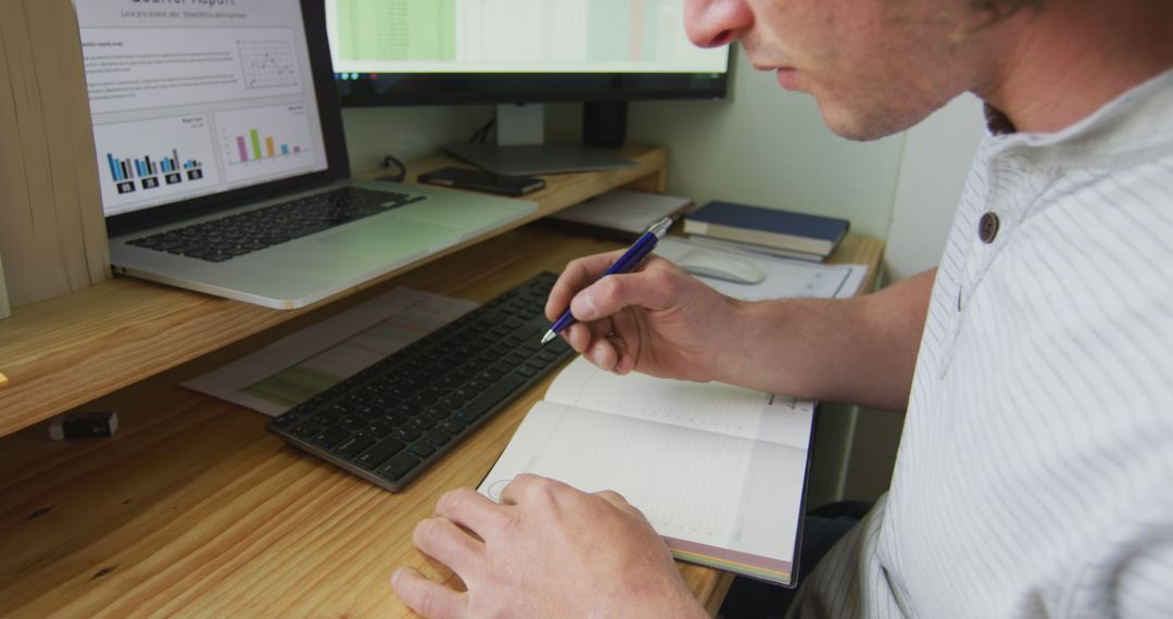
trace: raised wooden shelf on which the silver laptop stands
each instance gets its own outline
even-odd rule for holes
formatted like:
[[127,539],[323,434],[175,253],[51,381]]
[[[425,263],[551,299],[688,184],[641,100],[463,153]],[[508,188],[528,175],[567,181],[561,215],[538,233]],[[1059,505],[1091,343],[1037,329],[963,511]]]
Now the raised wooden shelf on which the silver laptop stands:
[[[337,301],[604,191],[663,190],[664,149],[632,145],[619,154],[637,165],[544,177],[547,188],[526,197],[538,203],[531,216],[301,310],[269,310],[124,278],[18,307],[0,320],[0,372],[9,380],[0,390],[0,436],[307,314],[337,312],[350,305]],[[411,178],[453,163],[439,156],[416,162]]]

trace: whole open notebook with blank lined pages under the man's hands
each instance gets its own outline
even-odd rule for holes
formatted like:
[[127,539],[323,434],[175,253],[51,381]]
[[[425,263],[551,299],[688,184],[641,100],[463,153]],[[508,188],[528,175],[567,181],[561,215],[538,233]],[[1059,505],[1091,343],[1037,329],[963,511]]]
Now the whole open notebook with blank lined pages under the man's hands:
[[794,586],[814,403],[618,376],[583,358],[530,409],[479,491],[534,472],[615,490],[683,560]]

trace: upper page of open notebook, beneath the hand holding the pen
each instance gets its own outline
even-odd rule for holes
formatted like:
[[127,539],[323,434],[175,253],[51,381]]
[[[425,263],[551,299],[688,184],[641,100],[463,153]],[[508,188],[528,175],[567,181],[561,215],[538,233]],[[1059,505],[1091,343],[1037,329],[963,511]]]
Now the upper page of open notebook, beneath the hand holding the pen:
[[806,449],[814,403],[720,382],[690,382],[603,372],[579,356],[545,400],[741,438]]

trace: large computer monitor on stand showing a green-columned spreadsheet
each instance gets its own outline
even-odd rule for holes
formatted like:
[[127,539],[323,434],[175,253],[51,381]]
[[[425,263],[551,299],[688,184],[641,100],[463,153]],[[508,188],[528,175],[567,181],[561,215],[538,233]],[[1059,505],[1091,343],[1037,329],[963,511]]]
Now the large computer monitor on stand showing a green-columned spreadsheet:
[[685,36],[684,0],[326,0],[326,30],[344,106],[496,103],[496,144],[449,150],[500,174],[628,163],[544,144],[543,103],[585,103],[585,145],[613,148],[628,101],[728,82],[728,48]]

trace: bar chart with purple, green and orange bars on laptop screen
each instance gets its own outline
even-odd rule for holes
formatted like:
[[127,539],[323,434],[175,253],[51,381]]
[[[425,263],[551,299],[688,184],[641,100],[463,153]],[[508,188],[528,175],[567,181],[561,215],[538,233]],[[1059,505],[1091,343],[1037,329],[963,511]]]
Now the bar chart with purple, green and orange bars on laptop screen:
[[305,106],[271,106],[215,115],[229,183],[308,169],[314,158]]

